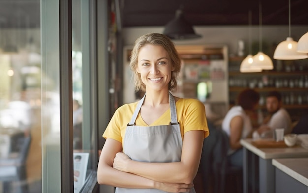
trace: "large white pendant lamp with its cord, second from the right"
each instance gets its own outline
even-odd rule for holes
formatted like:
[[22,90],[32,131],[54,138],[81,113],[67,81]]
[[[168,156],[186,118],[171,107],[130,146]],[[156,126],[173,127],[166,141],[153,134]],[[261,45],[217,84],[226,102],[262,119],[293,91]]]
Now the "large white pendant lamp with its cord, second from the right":
[[298,43],[291,37],[291,3],[289,0],[289,37],[286,41],[280,42],[275,49],[274,59],[280,60],[295,60],[306,59],[308,55],[306,53],[297,52]]

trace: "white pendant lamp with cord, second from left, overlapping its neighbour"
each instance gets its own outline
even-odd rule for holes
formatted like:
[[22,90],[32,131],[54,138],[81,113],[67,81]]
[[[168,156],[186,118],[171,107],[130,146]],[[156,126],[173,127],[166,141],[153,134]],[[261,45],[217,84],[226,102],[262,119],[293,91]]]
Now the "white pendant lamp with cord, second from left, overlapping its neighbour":
[[260,51],[253,56],[253,66],[262,70],[272,70],[274,68],[272,59],[262,52],[262,7],[259,2],[259,36],[260,36]]

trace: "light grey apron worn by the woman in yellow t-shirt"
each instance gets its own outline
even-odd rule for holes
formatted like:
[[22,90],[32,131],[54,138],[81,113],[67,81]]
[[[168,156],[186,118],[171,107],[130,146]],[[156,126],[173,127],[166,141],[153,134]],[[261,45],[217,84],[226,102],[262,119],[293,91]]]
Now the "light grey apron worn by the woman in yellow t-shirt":
[[[136,110],[127,124],[123,152],[132,160],[139,162],[179,162],[181,161],[182,137],[177,119],[175,100],[169,92],[171,122],[169,125],[137,126],[145,95],[139,101]],[[116,188],[116,193],[167,193],[158,189]],[[192,189],[189,193],[195,193]]]

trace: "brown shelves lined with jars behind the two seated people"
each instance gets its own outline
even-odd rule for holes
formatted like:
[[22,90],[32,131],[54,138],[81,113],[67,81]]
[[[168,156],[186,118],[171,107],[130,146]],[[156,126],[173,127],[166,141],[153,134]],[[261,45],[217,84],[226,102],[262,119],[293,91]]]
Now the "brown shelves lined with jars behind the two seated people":
[[[308,60],[274,61],[274,70],[259,73],[239,71],[243,57],[229,59],[229,104],[235,104],[239,92],[253,88],[260,93],[259,108],[266,112],[265,97],[270,91],[282,95],[283,107],[288,110],[292,120],[298,120],[308,113]],[[276,63],[275,63],[276,62]]]

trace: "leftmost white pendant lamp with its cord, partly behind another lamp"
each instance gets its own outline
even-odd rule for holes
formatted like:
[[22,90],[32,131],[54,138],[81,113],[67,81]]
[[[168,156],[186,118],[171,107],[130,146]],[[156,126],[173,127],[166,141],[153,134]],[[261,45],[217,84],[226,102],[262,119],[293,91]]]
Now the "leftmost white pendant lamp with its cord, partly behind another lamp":
[[248,21],[249,21],[249,30],[248,30],[248,40],[249,40],[249,54],[247,57],[242,61],[240,66],[240,72],[261,72],[262,69],[255,67],[252,65],[253,63],[253,56],[251,55],[251,11],[248,12]]

